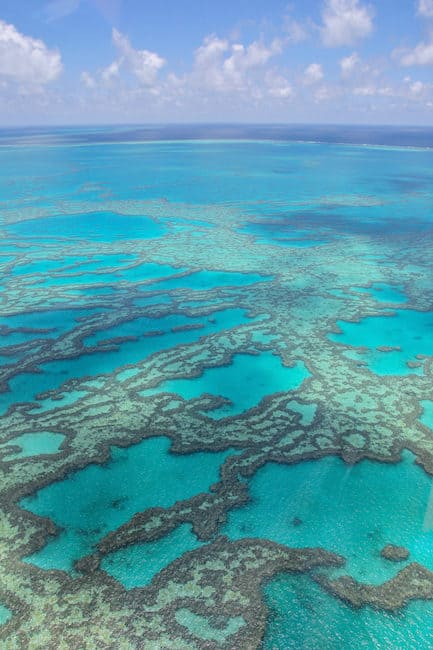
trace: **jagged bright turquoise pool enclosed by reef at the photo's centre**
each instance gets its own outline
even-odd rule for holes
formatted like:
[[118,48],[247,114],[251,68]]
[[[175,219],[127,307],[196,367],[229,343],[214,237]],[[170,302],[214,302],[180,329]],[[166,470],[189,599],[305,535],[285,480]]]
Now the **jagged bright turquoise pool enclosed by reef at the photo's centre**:
[[266,395],[299,388],[309,376],[302,362],[292,368],[283,366],[280,357],[272,352],[259,355],[236,354],[230,365],[206,368],[201,377],[170,379],[156,388],[142,391],[144,397],[161,392],[177,393],[190,400],[204,393],[221,395],[230,400],[206,415],[220,419],[239,415],[257,406]]

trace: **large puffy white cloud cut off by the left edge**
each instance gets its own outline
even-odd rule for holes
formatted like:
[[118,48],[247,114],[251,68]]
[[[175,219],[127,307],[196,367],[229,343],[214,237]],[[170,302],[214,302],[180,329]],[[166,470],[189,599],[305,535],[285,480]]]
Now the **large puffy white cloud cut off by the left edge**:
[[62,71],[60,53],[0,20],[0,78],[42,86]]

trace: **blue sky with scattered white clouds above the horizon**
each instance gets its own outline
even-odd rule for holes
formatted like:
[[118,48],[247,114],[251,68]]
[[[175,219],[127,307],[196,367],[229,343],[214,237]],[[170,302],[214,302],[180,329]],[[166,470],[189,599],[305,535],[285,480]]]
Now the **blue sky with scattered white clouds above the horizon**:
[[433,125],[433,0],[0,0],[0,126]]

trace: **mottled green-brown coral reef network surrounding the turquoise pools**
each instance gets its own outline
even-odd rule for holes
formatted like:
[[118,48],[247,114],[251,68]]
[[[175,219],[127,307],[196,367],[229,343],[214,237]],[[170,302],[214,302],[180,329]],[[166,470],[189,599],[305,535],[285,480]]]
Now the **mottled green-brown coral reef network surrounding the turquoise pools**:
[[[312,199],[308,206],[368,210],[382,203],[380,197],[329,196]],[[288,202],[285,207],[290,213],[305,206]],[[103,336],[97,344],[86,343],[88,337],[108,328],[143,316],[154,318],[155,327],[144,328],[140,335],[145,337],[156,335],[156,319],[166,315],[184,314],[197,321],[187,328],[196,333],[188,344],[142,355],[110,373],[95,369],[91,376],[70,379],[39,395],[51,398],[45,410],[35,402],[19,403],[23,399],[17,392],[16,403],[1,421],[1,443],[38,431],[58,432],[66,438],[56,454],[15,461],[5,460],[11,448],[0,448],[0,602],[13,614],[0,628],[0,647],[249,650],[259,646],[264,633],[267,610],[262,585],[283,571],[311,574],[328,593],[353,607],[395,610],[411,599],[433,599],[433,573],[415,562],[383,585],[371,586],[350,576],[332,579],[314,572],[344,564],[344,558],[326,549],[290,549],[266,540],[234,542],[219,536],[227,512],[250,498],[248,478],[270,461],[290,464],[337,455],[349,464],[364,458],[396,463],[402,450],[409,449],[425,472],[433,475],[433,434],[419,420],[421,401],[433,399],[432,357],[408,362],[408,368],[419,374],[379,377],[362,361],[345,355],[350,346],[328,338],[337,331],[338,320],[358,321],[395,307],[379,304],[368,293],[354,292],[354,287],[376,282],[400,285],[408,297],[404,308],[433,310],[427,290],[433,284],[431,237],[392,233],[346,237],[342,233],[320,249],[258,244],[240,231],[247,219],[251,221],[254,206],[249,206],[246,215],[237,206],[166,200],[64,201],[43,210],[5,207],[2,218],[7,225],[51,214],[92,211],[146,214],[163,223],[167,231],[164,237],[145,242],[80,242],[80,254],[91,259],[109,253],[131,254],[133,262],[123,268],[163,262],[175,266],[178,272],[174,274],[179,277],[185,275],[185,268],[188,272],[206,268],[270,277],[253,285],[193,290],[188,284],[158,289],[150,280],[131,282],[120,276],[114,283],[116,290],[103,294],[94,291],[100,283],[83,284],[83,273],[73,265],[64,271],[72,276],[67,285],[41,283],[37,274],[12,275],[18,263],[33,259],[25,242],[13,242],[20,251],[18,258],[1,265],[8,277],[4,316],[62,306],[70,309],[71,296],[74,309],[107,310],[87,316],[81,313],[71,329],[59,336],[50,337],[46,329],[35,328],[31,340],[1,348],[0,355],[11,360],[2,367],[4,395],[14,377],[24,372],[34,374],[37,387],[41,366],[48,362],[88,355],[91,366],[92,355],[115,350],[120,350],[121,360],[122,345],[136,337]],[[178,220],[182,220],[181,228]],[[0,236],[6,240],[9,235],[4,230]],[[404,253],[408,248],[410,259]],[[48,241],[43,251],[51,260],[76,253],[77,244],[67,240]],[[104,272],[110,270],[116,269],[104,268]],[[144,297],[149,298],[147,306],[143,306]],[[245,322],[203,335],[209,319],[234,307],[246,311]],[[26,329],[16,327],[15,331],[25,333]],[[5,327],[0,330],[5,341],[8,333]],[[271,350],[287,366],[302,361],[310,376],[297,390],[267,395],[239,416],[207,417],[206,412],[222,403],[218,395],[185,401],[168,393],[141,394],[170,378],[198,377],[207,368],[229,365],[239,352],[254,355],[264,350]],[[384,347],[378,352],[387,355],[393,350]],[[74,400],[65,399],[72,393]],[[313,408],[309,420],[302,416],[305,405]],[[75,578],[22,562],[22,557],[43,547],[48,536],[57,532],[51,521],[20,509],[22,497],[90,463],[106,462],[111,445],[126,447],[153,436],[168,436],[172,453],[230,448],[237,455],[226,459],[209,493],[169,508],[137,513],[100,539],[95,552],[78,561],[80,573]],[[100,560],[107,553],[161,539],[185,522],[207,543],[163,569],[150,586],[127,592],[100,570]],[[390,553],[386,557],[400,559]],[[197,626],[189,629],[188,616],[202,620],[206,634],[200,636]]]

